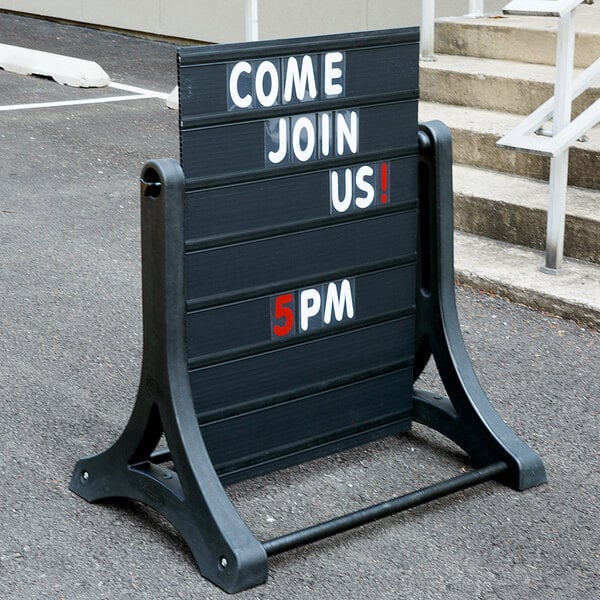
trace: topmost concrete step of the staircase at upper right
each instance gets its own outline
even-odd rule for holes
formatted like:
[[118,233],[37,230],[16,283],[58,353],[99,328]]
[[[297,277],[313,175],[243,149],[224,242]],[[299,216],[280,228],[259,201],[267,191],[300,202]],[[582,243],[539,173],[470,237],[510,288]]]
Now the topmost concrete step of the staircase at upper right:
[[[450,17],[436,21],[436,52],[553,65],[556,57],[554,17],[492,15],[479,19]],[[575,66],[598,58],[600,5],[580,5],[575,11]]]

